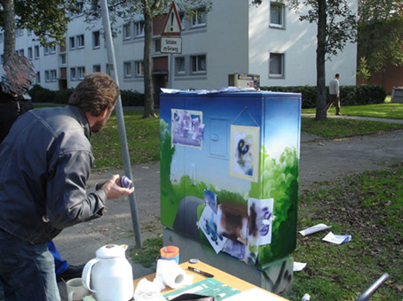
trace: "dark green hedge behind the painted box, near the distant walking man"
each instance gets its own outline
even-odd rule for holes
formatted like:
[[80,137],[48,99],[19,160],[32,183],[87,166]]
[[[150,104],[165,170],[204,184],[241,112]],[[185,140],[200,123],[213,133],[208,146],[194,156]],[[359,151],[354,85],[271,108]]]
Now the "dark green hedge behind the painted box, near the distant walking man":
[[[302,107],[304,109],[316,107],[316,86],[295,87],[261,87],[260,89],[273,92],[294,92],[302,94]],[[341,105],[382,104],[386,91],[382,86],[340,86]],[[326,87],[328,101],[328,87]]]

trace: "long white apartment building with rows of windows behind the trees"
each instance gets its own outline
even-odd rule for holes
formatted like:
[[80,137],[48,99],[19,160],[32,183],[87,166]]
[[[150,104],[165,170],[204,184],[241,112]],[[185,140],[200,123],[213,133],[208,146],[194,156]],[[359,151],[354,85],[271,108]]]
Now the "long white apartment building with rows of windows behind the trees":
[[[182,53],[161,52],[164,19],[154,19],[153,75],[156,89],[220,89],[233,73],[260,75],[261,86],[316,85],[316,24],[300,21],[283,4],[214,0],[212,10],[179,12]],[[351,0],[352,10],[357,1]],[[83,13],[72,16],[63,45],[42,47],[28,30],[17,30],[16,51],[36,69],[36,83],[47,89],[74,88],[85,74],[109,73],[102,23],[88,25]],[[143,92],[144,23],[121,20],[114,38],[121,89]],[[3,33],[0,53],[3,53]],[[326,82],[341,74],[342,85],[356,83],[357,47],[349,43],[326,64]],[[3,70],[1,70],[3,72]],[[171,76],[171,78],[169,78]]]

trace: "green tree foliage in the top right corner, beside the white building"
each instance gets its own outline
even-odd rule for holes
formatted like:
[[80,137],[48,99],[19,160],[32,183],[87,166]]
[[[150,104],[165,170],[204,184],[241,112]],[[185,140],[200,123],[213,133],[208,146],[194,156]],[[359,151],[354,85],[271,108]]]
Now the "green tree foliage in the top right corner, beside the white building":
[[381,73],[388,62],[403,66],[403,1],[360,0],[359,58],[368,73]]

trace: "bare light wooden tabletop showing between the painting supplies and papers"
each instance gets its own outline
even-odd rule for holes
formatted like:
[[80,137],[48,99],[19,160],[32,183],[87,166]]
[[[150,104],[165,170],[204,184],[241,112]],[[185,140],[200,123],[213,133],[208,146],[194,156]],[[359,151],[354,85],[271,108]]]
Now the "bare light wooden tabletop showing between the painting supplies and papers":
[[[192,264],[192,263],[186,261],[186,262],[180,264],[179,266],[181,266],[186,271],[186,274],[193,274],[194,275],[194,283],[195,282],[200,282],[200,281],[206,279],[206,277],[201,275],[201,274],[199,274],[199,273],[196,273],[196,272],[193,272],[191,270],[188,270],[187,266],[193,266],[194,268],[197,268],[197,269],[199,269],[199,270],[201,270],[203,272],[213,274],[214,279],[216,279],[218,282],[223,282],[223,283],[225,283],[225,284],[227,284],[227,285],[229,285],[229,286],[231,286],[231,287],[233,287],[235,289],[239,289],[241,292],[249,290],[249,289],[261,289],[261,288],[258,288],[256,285],[254,285],[252,283],[245,282],[245,281],[241,280],[240,278],[233,276],[232,274],[227,274],[227,273],[217,269],[216,267],[209,266],[208,264],[206,264],[204,262],[201,262],[201,261],[199,261],[198,263],[195,263],[195,264]],[[138,279],[135,279],[134,280],[134,289],[137,288],[138,282],[143,278],[146,278],[146,280],[148,280],[150,282],[153,282],[153,280],[155,278],[155,274],[149,274],[149,275],[146,275],[145,277],[140,277]],[[176,289],[166,288],[166,289],[162,290],[162,294],[167,294],[167,293],[170,293],[170,292],[172,292],[174,290],[176,290]],[[276,300],[288,301],[288,299],[285,299],[283,297],[275,295],[270,291],[267,291],[265,289],[261,289],[261,290],[265,291],[265,293],[267,293],[267,294],[273,295],[273,297],[275,297]]]

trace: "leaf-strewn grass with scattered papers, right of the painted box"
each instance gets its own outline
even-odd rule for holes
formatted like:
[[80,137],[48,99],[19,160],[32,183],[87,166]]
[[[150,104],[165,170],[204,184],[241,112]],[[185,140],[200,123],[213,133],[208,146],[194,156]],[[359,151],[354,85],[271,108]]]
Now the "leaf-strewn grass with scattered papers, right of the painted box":
[[[386,168],[386,167],[385,167]],[[288,299],[299,301],[355,300],[383,273],[390,278],[371,301],[403,297],[403,161],[383,171],[322,182],[302,191],[298,230],[318,223],[331,225],[334,234],[352,235],[341,245],[325,243],[328,231],[297,234],[291,256],[307,266],[294,274]]]

